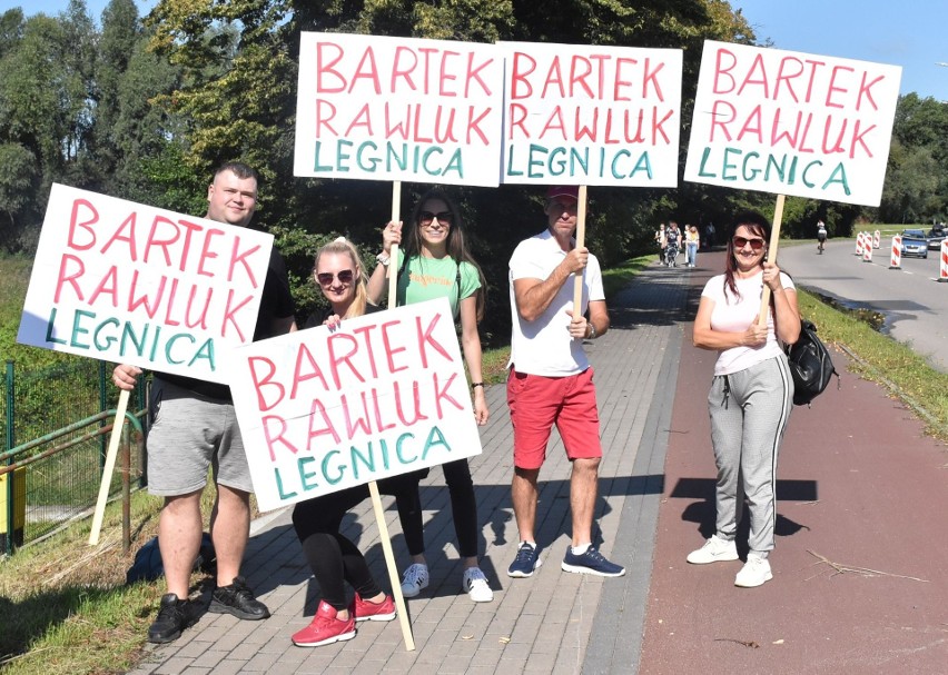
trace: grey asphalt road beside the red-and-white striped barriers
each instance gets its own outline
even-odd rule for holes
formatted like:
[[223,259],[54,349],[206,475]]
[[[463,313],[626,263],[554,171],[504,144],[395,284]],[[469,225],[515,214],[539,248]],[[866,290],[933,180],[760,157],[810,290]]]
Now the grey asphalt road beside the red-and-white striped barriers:
[[938,251],[927,260],[902,257],[901,269],[889,269],[889,246],[875,250],[871,262],[857,258],[852,240],[830,240],[821,256],[814,244],[783,246],[777,259],[798,285],[881,312],[889,335],[948,373],[948,284],[938,282]]

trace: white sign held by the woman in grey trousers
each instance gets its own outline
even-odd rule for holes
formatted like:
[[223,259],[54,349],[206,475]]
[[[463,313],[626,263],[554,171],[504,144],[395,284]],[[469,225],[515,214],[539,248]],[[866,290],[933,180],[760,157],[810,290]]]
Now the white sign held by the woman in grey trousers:
[[901,68],[704,42],[684,178],[879,206]]

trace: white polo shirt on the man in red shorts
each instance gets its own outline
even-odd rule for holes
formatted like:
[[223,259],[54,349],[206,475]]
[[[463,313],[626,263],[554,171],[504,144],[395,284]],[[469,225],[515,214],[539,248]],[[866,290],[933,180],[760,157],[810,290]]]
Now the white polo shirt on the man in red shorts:
[[[513,282],[517,279],[542,281],[550,277],[565,257],[566,251],[560,248],[560,244],[550,230],[543,230],[542,234],[521,241],[511,256],[510,294],[513,335],[508,366],[514,366],[517,373],[565,377],[577,375],[590,367],[582,340],[575,340],[570,336],[575,275],[570,275],[546,311],[535,320],[524,320],[516,310]],[[590,300],[604,299],[599,260],[590,254],[589,262],[583,270],[583,314]]]

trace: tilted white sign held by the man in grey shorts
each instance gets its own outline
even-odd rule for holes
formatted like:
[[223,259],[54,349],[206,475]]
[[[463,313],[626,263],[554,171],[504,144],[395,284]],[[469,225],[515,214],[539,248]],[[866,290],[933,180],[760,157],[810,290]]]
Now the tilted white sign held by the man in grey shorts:
[[273,236],[53,185],[17,340],[208,381],[254,338]]

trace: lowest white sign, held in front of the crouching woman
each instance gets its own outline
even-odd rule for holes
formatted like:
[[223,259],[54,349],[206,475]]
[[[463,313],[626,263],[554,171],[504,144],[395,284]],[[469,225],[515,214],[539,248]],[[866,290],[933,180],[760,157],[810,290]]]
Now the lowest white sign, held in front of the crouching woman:
[[236,350],[261,510],[481,453],[446,298]]

